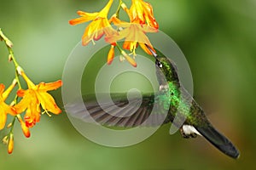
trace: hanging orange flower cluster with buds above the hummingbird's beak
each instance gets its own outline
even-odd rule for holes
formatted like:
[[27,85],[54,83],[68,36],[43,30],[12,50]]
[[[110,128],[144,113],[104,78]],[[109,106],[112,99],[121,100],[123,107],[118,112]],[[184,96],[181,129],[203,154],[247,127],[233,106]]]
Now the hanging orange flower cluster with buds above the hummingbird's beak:
[[[148,48],[154,51],[153,45],[149,41],[146,33],[157,32],[159,25],[154,19],[153,8],[150,3],[143,0],[131,0],[131,8],[127,8],[122,0],[119,0],[119,8],[116,14],[108,20],[108,12],[111,8],[113,0],[109,0],[108,4],[98,13],[85,13],[78,11],[79,18],[69,21],[70,25],[77,25],[91,20],[89,26],[86,27],[82,37],[82,44],[85,46],[90,41],[99,40],[105,36],[105,41],[111,44],[108,52],[108,65],[113,61],[114,48],[117,47],[122,54],[120,60],[126,59],[131,65],[137,66],[134,57],[136,56],[136,48],[140,45],[147,53],[151,54]],[[119,10],[123,9],[129,16],[130,21],[126,22],[119,19]],[[119,47],[119,41],[125,39],[123,47]],[[147,44],[147,46],[146,46]],[[133,58],[125,53],[129,50]]]

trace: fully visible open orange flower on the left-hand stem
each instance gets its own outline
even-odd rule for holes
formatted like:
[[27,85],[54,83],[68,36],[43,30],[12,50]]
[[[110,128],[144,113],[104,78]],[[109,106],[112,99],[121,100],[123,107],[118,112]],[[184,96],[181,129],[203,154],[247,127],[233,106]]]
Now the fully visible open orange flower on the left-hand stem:
[[19,73],[25,79],[28,89],[20,89],[17,92],[17,95],[23,97],[23,99],[21,99],[19,104],[15,105],[15,109],[17,113],[26,110],[26,115],[24,116],[26,127],[33,127],[36,122],[40,121],[40,105],[46,113],[48,113],[48,111],[54,114],[61,113],[61,109],[55,104],[55,99],[47,93],[49,90],[60,88],[62,85],[61,80],[49,83],[40,82],[38,85],[35,85],[28,77],[26,77],[24,71],[19,71]]

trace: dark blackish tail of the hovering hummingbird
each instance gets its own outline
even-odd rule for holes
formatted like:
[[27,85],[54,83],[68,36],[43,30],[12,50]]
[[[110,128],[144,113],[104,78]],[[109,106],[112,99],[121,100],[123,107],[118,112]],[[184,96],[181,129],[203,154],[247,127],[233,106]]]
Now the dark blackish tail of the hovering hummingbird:
[[224,137],[223,134],[218,133],[218,131],[212,127],[195,127],[202,136],[204,136],[210,143],[212,143],[218,150],[222,151],[225,155],[232,158],[239,157],[239,151],[236,149],[234,144],[230,142],[229,139]]

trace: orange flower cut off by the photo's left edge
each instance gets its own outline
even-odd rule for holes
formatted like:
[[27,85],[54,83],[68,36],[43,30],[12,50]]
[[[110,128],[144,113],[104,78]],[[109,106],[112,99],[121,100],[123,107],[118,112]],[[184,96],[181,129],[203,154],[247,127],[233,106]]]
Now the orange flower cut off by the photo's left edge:
[[15,84],[16,81],[14,81],[5,92],[3,92],[4,85],[0,84],[0,130],[2,130],[5,126],[8,113],[12,116],[16,115],[15,109],[4,103],[9,93],[13,90],[13,88],[15,88]]

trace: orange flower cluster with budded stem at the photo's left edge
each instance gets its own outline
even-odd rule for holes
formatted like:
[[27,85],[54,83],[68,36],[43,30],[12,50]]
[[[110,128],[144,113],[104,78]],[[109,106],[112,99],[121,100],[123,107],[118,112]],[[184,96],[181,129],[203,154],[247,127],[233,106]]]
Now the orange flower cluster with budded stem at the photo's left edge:
[[[1,29],[0,40],[5,42],[9,50],[9,61],[13,61],[15,64],[15,78],[9,88],[4,90],[5,86],[0,83],[0,130],[6,125],[7,116],[13,116],[13,121],[7,125],[10,129],[9,134],[3,138],[3,143],[8,144],[10,154],[14,149],[14,125],[16,120],[20,122],[20,127],[26,138],[29,138],[31,135],[29,129],[40,121],[42,114],[47,113],[49,115],[49,112],[51,112],[57,115],[61,113],[61,109],[55,104],[55,99],[47,92],[60,88],[62,82],[61,80],[49,83],[40,82],[35,85],[17,63],[12,49],[13,43],[4,36]],[[27,89],[22,89],[20,77],[25,80]],[[15,99],[8,105],[6,99],[16,86],[18,86],[18,90]],[[25,112],[25,115],[22,117],[23,112]]]

